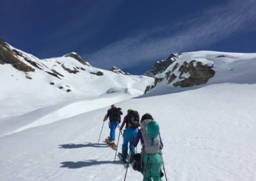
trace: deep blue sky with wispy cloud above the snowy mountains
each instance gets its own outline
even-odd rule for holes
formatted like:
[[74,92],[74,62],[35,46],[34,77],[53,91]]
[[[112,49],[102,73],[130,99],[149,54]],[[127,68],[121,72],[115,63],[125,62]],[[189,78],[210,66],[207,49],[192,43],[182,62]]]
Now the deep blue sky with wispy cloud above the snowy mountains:
[[256,52],[256,0],[0,1],[0,37],[43,59],[77,52],[141,75],[172,52]]

